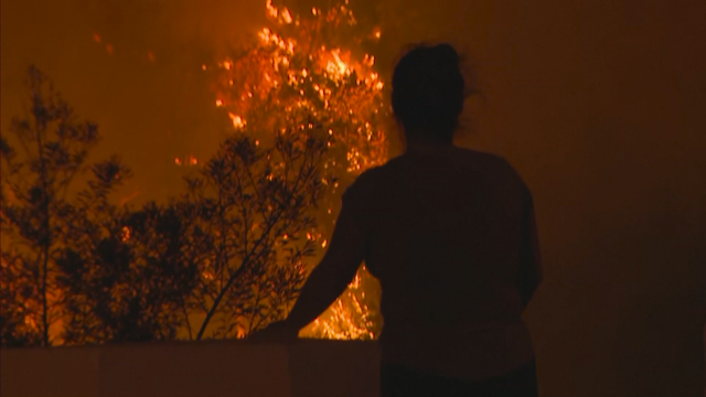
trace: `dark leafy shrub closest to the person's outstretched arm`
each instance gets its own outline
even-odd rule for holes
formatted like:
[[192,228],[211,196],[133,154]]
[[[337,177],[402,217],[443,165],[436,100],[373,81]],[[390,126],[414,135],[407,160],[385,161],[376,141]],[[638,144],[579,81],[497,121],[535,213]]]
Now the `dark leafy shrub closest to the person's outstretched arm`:
[[327,139],[315,120],[303,129],[299,121],[272,132],[268,146],[245,127],[188,179],[185,202],[195,210],[189,238],[203,254],[190,305],[201,313],[197,340],[243,337],[281,320],[303,283]]

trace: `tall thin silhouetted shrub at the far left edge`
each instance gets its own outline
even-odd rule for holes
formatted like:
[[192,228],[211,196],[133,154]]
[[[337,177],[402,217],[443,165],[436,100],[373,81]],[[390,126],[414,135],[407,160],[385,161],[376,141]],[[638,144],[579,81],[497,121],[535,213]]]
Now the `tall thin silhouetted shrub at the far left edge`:
[[78,121],[35,67],[26,85],[29,109],[1,139],[0,332],[3,345],[47,346],[50,329],[64,316],[57,260],[76,236],[93,234],[97,219],[84,214],[109,216],[107,196],[129,170],[117,158],[95,163],[88,195],[72,198],[72,182],[88,171],[88,152],[99,140],[97,126]]

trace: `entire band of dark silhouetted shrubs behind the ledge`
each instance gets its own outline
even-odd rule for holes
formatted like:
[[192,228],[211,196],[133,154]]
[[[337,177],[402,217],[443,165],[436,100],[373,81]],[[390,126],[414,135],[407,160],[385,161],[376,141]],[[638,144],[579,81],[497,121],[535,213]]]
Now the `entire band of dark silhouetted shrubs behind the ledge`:
[[28,84],[2,137],[2,345],[237,337],[286,315],[314,255],[315,120],[267,147],[236,132],[183,196],[132,210],[110,201],[119,159],[86,161],[97,127],[36,68]]

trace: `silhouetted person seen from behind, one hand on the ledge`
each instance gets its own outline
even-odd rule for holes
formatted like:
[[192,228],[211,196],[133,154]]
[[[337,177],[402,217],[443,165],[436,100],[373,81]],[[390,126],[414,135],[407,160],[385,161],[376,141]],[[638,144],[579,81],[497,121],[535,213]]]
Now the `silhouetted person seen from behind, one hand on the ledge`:
[[452,144],[463,93],[450,45],[398,62],[406,152],[347,189],[324,258],[260,337],[296,337],[365,260],[383,290],[383,396],[536,396],[521,318],[542,280],[532,195],[502,158]]

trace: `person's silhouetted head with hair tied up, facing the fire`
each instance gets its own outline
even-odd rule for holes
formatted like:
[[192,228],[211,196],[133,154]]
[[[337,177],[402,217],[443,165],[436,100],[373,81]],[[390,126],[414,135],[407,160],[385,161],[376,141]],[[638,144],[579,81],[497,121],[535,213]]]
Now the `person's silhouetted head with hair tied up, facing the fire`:
[[407,140],[451,143],[464,99],[459,64],[449,44],[417,45],[399,60],[392,101]]

